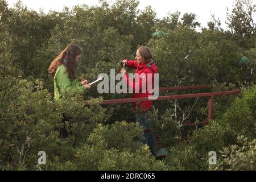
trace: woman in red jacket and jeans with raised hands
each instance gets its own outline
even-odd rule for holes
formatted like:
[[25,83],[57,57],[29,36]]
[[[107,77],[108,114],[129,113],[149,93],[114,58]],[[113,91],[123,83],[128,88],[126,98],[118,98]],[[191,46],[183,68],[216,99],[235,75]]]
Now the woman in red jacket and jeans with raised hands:
[[[155,73],[158,73],[158,68],[152,61],[152,53],[148,47],[140,47],[136,52],[136,60],[123,60],[122,63],[127,67],[136,69],[135,80],[129,78],[125,69],[121,69],[123,80],[126,81],[129,89],[133,89],[133,98],[148,97],[152,95],[152,88],[154,88]],[[150,109],[153,101],[134,102],[133,107],[136,111],[136,119],[144,127],[143,143],[150,146],[152,155],[155,155],[154,147],[156,144],[155,135],[150,126]]]

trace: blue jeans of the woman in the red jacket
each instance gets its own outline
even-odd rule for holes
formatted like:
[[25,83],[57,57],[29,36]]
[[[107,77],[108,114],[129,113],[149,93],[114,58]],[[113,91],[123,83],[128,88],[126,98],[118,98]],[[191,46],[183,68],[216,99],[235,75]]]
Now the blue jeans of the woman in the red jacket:
[[[144,130],[148,130],[148,129],[152,129],[150,126],[150,111],[147,111],[146,113],[136,113],[135,117],[136,117],[136,121],[139,122],[139,124],[143,127]],[[155,146],[156,146],[156,139],[155,139],[155,134],[154,132],[150,131],[150,132],[145,132],[143,134],[144,139],[142,140],[142,143],[144,144],[148,144],[148,146],[150,147],[150,151],[152,155],[156,155],[155,154]]]

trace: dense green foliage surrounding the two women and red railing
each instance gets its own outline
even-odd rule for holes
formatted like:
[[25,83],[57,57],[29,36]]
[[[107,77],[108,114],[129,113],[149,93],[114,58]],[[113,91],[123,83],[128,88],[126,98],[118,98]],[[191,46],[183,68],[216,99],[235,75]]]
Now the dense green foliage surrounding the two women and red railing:
[[[225,156],[217,169],[255,170],[253,2],[236,1],[228,14],[230,31],[222,30],[213,16],[209,28],[200,32],[196,31],[200,23],[193,13],[181,15],[176,11],[158,19],[152,7],[138,10],[138,5],[135,0],[101,0],[100,6],[64,7],[60,12],[43,14],[28,10],[21,1],[11,9],[6,1],[0,1],[1,169],[203,170],[209,167],[209,151],[231,145],[220,152]],[[152,38],[154,32],[166,36]],[[170,150],[160,162],[141,143],[142,128],[134,123],[131,104],[100,106],[102,99],[130,94],[102,94],[98,98],[97,86],[92,86],[84,95],[66,93],[64,100],[53,102],[49,96],[53,79],[47,69],[69,43],[82,47],[79,77],[89,81],[100,73],[110,76],[110,69],[119,73],[117,63],[134,59],[135,50],[147,45],[159,68],[160,86],[211,84],[213,87],[205,92],[243,92],[238,98],[214,97],[214,121],[204,128],[196,126],[193,133],[185,134],[191,140],[183,142],[183,125],[207,118],[207,98],[162,102],[164,110],[153,112],[151,117],[160,147]],[[243,56],[248,61],[239,65]],[[115,122],[124,120],[132,123]],[[69,137],[61,140],[59,130],[64,126]],[[238,135],[247,136],[251,142],[241,137],[242,146],[232,146]],[[45,166],[38,164],[39,151],[46,151]]]

